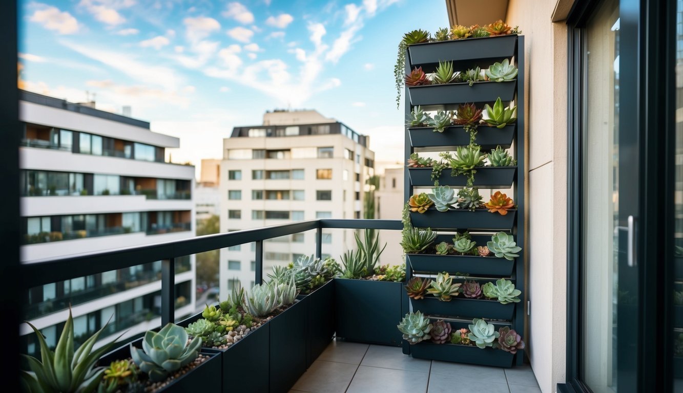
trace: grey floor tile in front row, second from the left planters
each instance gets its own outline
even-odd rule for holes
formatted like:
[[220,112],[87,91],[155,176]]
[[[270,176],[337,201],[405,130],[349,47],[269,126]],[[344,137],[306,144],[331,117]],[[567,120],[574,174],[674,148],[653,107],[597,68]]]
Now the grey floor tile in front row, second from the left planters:
[[428,373],[360,366],[348,393],[425,393]]

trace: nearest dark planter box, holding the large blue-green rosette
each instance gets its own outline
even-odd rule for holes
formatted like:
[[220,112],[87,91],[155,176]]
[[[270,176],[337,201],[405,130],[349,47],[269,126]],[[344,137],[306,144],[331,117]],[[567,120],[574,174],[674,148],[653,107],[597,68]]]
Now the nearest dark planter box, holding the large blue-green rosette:
[[[142,340],[142,338],[138,338],[133,341],[133,345],[137,348],[142,348]],[[189,373],[182,375],[182,377],[174,379],[171,383],[166,385],[165,388],[158,390],[158,392],[193,392],[197,389],[197,386],[201,386],[202,389],[206,388],[208,391],[219,392],[221,390],[221,385],[223,384],[223,380],[220,377],[221,355],[216,351],[204,351],[204,349],[202,349],[200,353],[201,355],[210,356],[210,359],[199,364],[199,366],[193,368]],[[99,365],[107,367],[114,360],[124,360],[128,358],[130,358],[130,347],[126,344],[102,356]]]

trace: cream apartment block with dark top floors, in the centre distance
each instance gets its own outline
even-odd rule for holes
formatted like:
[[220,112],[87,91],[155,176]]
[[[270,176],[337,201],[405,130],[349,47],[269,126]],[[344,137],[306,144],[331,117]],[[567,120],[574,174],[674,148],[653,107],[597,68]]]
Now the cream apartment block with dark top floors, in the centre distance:
[[[365,181],[374,174],[370,139],[316,111],[275,111],[263,126],[223,139],[221,232],[316,218],[363,218]],[[352,230],[323,232],[322,253],[355,248]],[[264,276],[316,250],[316,233],[264,242]],[[234,280],[254,281],[253,244],[221,250],[221,298]]]

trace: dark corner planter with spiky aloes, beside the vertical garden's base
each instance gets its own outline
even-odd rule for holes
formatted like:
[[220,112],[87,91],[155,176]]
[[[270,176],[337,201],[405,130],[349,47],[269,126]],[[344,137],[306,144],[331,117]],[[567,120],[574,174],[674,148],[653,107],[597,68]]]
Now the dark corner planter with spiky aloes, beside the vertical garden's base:
[[[335,278],[337,337],[400,346],[393,326],[403,313],[405,266],[377,266],[386,244],[380,249],[379,237],[371,231],[365,231],[363,240],[356,235],[356,244],[357,250],[342,256],[342,274]],[[359,328],[357,321],[368,328]]]

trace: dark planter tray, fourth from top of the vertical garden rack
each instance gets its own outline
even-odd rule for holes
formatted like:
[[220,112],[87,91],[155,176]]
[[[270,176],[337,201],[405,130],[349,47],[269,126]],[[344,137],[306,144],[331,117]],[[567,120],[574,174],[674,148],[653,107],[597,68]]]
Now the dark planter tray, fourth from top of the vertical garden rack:
[[[482,166],[474,174],[474,185],[479,188],[512,188],[516,173],[516,166]],[[408,175],[413,186],[434,186],[431,168],[408,168]],[[438,184],[462,187],[467,185],[467,178],[464,175],[451,176],[451,169],[446,168],[441,171]]]

